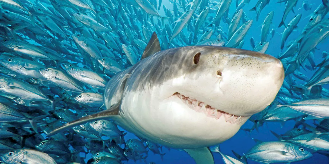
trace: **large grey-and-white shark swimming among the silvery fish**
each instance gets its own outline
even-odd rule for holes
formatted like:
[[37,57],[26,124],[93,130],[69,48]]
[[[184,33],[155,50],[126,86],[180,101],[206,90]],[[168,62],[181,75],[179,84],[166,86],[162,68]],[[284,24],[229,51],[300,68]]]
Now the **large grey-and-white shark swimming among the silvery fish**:
[[141,138],[184,149],[197,164],[213,164],[208,147],[231,138],[270,105],[283,80],[282,63],[273,56],[217,46],[161,51],[153,33],[142,59],[107,83],[107,110],[48,135],[112,119]]

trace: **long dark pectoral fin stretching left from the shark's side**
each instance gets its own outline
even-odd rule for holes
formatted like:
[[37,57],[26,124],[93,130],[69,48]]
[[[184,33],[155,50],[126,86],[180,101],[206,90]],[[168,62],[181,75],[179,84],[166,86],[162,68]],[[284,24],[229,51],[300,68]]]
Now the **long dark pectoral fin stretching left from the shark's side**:
[[115,104],[112,107],[110,107],[107,110],[94,113],[82,118],[79,118],[77,120],[71,121],[69,123],[66,123],[58,128],[56,128],[54,131],[50,132],[47,136],[51,136],[60,132],[63,132],[64,130],[73,128],[75,126],[90,122],[90,121],[95,121],[95,120],[100,120],[100,119],[105,119],[105,118],[111,118],[113,116],[119,115],[119,107],[120,104]]

